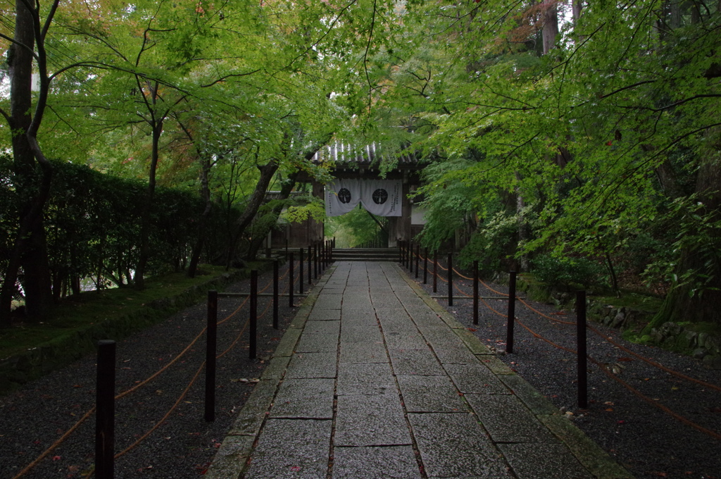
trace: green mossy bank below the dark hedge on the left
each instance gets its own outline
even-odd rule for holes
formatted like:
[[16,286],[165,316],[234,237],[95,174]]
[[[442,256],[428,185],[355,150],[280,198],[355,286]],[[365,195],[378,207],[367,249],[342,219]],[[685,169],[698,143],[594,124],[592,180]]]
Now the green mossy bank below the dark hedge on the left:
[[[263,269],[265,263],[248,266]],[[209,289],[239,281],[248,271],[203,265],[195,278],[180,271],[148,278],[143,291],[132,287],[89,291],[63,299],[47,320],[16,321],[0,330],[0,393],[94,351],[98,339],[125,338],[198,304]]]

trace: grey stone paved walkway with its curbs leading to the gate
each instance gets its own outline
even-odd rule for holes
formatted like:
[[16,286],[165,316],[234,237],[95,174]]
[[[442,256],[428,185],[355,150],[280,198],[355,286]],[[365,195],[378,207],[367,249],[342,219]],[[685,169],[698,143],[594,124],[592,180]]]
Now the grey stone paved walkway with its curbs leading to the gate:
[[397,265],[337,262],[206,477],[632,476]]

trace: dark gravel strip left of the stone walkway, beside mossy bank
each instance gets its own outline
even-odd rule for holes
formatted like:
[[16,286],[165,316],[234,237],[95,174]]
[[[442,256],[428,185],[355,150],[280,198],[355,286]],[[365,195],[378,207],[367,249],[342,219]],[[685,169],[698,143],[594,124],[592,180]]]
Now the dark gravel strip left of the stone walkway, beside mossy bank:
[[[284,273],[281,268],[280,274]],[[297,274],[297,264],[296,264]],[[270,284],[273,273],[262,273],[259,289]],[[306,276],[307,282],[307,276]],[[287,278],[280,282],[283,290]],[[307,290],[307,284],[305,288]],[[225,291],[249,291],[249,281],[229,286]],[[297,291],[297,288],[296,288]],[[272,292],[272,286],[267,292]],[[258,300],[258,315],[270,298]],[[243,299],[221,298],[218,322],[234,312]],[[300,300],[296,298],[296,304]],[[272,307],[258,321],[257,359],[248,359],[247,331],[225,356],[218,359],[216,421],[203,420],[205,374],[205,335],[202,335],[176,363],[148,384],[116,401],[115,450],[123,451],[146,434],[179,400],[191,379],[200,370],[167,421],[137,447],[115,462],[116,478],[197,478],[208,467],[216,447],[225,437],[249,393],[253,378],[260,377],[265,360],[275,350],[286,325],[297,308],[282,297],[279,307],[280,330],[271,327]],[[154,327],[118,342],[116,353],[116,392],[143,381],[167,365],[205,327],[207,307],[198,304]],[[244,329],[249,317],[245,307],[230,320],[218,325],[218,353],[229,348]],[[27,384],[12,395],[0,397],[0,478],[14,478],[24,467],[45,452],[71,428],[95,401],[95,356]],[[251,381],[247,381],[251,379]],[[94,466],[95,416],[89,416],[48,457],[23,478],[81,478]]]

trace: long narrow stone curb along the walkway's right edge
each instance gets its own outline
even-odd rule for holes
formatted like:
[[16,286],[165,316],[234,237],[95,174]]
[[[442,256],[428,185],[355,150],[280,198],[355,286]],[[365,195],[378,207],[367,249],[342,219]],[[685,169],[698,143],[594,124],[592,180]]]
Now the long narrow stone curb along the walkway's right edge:
[[487,366],[513,394],[526,405],[526,408],[541,421],[549,431],[564,443],[583,467],[598,479],[633,479],[624,467],[619,465],[606,451],[601,449],[571,421],[562,416],[559,410],[536,388],[528,384],[523,377],[513,372],[503,361],[498,359],[480,340],[466,330],[441,304],[438,304],[396,263],[394,267],[401,273],[407,284],[418,296],[433,309],[438,317],[454,330],[464,341],[477,359]]

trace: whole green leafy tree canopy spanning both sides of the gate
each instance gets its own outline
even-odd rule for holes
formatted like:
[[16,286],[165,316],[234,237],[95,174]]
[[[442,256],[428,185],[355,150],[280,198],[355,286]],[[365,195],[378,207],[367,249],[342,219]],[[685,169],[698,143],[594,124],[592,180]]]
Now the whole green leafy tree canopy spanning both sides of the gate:
[[[72,211],[53,217],[57,224],[43,223],[57,208],[48,203],[54,180],[45,154],[143,179],[139,207],[128,211],[140,221],[136,286],[142,286],[156,268],[151,252],[160,241],[154,215],[163,193],[156,186],[200,195],[198,213],[186,210],[184,225],[168,226],[187,229],[178,234],[195,227],[193,271],[209,247],[200,232],[218,221],[213,208],[225,212],[216,259],[252,255],[257,242],[244,244],[249,228],[257,239],[273,227],[298,172],[328,179],[328,165],[309,161],[314,151],[329,141],[378,141],[386,152],[412,149],[428,162],[417,191],[428,211],[428,247],[462,230],[469,241],[461,258],[482,260],[488,270],[515,263],[542,274],[549,258],[593,263],[619,294],[629,286],[665,294],[659,321],[715,320],[720,6],[705,0],[5,6],[0,38],[9,83],[1,113],[10,128],[1,131],[13,151],[13,183],[3,185],[2,198],[15,198],[17,228],[3,233],[10,249],[0,311],[20,272],[28,311],[35,317],[45,311],[53,291],[46,250],[74,234]],[[386,156],[384,171],[394,166]],[[280,203],[263,207],[270,189],[280,191]],[[290,216],[318,209],[313,201],[306,205],[308,211],[294,204]],[[61,220],[67,230],[58,227]],[[163,254],[181,258],[183,251]]]

